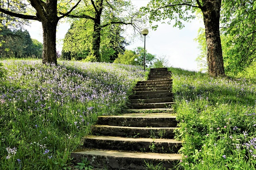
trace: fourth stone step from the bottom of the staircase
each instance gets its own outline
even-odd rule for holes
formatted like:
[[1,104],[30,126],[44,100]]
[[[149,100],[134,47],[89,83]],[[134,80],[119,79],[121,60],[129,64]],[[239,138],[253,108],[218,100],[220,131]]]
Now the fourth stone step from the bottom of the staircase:
[[99,116],[98,125],[128,126],[128,127],[176,127],[176,116],[162,114],[126,114],[119,116]]

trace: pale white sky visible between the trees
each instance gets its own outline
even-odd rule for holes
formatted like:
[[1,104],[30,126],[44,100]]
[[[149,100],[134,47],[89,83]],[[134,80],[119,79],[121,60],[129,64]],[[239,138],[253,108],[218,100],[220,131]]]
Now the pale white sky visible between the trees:
[[[140,8],[146,6],[149,0],[131,0],[132,3]],[[169,66],[183,68],[187,70],[199,70],[196,58],[200,51],[198,43],[194,41],[197,37],[198,29],[204,27],[203,21],[194,19],[191,22],[184,22],[185,27],[178,29],[168,24],[158,24],[156,31],[147,27],[149,33],[146,35],[146,50],[156,57],[165,56]],[[62,50],[62,39],[69,29],[69,24],[59,22],[57,27],[57,47],[58,51]],[[42,25],[39,21],[32,21],[30,26],[26,26],[32,39],[43,42]],[[135,49],[144,47],[144,39],[134,39],[126,49]]]

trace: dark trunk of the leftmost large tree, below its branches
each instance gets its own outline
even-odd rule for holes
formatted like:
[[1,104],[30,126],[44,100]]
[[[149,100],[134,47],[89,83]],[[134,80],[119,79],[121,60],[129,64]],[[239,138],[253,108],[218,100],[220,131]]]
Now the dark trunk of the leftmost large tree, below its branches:
[[43,64],[46,64],[46,63],[57,64],[57,54],[56,54],[57,23],[54,23],[54,21],[42,22],[42,28],[43,28],[42,63]]

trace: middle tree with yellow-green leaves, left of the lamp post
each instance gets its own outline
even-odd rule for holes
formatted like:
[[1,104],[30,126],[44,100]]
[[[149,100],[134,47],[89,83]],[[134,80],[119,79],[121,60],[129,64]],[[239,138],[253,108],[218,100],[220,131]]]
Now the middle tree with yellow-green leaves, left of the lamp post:
[[[90,46],[90,56],[87,59],[91,61],[102,61],[100,54],[101,33],[104,27],[112,24],[132,25],[135,30],[139,31],[138,23],[143,19],[138,12],[133,12],[130,1],[122,0],[85,0],[84,8],[69,14],[69,17],[84,18],[85,22],[90,20],[92,25],[92,42]],[[126,16],[128,15],[128,16]]]

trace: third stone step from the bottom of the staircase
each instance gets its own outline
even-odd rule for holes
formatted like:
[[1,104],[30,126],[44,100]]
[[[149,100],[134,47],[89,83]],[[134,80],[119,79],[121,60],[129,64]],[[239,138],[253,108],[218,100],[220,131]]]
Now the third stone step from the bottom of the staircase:
[[164,131],[166,139],[173,139],[176,127],[120,127],[109,125],[92,125],[92,135],[149,138],[154,131]]

